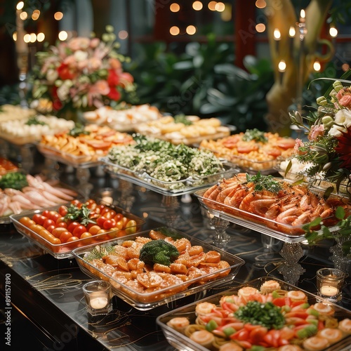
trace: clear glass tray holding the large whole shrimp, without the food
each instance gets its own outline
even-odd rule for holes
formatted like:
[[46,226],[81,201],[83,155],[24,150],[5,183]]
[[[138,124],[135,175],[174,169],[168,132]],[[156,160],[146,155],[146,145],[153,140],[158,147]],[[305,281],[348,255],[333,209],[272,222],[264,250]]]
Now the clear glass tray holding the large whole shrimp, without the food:
[[[221,204],[218,201],[207,199],[204,197],[206,189],[194,192],[194,195],[199,199],[201,206],[218,218],[228,220],[230,223],[235,223],[243,227],[247,227],[256,232],[270,235],[276,239],[280,239],[289,243],[296,243],[305,240],[305,231],[303,225],[288,225],[279,223],[276,220],[263,218],[255,213],[250,213],[240,208]],[[328,219],[328,218],[327,218]],[[324,225],[328,225],[328,220],[324,220]],[[331,232],[337,230],[336,225],[330,225]]]

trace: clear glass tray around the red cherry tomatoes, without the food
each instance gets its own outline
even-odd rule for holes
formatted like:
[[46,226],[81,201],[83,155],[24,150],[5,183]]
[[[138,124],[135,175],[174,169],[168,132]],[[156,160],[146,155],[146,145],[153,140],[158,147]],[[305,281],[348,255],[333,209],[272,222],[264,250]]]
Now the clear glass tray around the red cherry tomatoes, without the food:
[[[100,204],[104,204],[105,206],[107,203],[104,201],[100,201]],[[114,205],[108,205],[109,207],[113,208],[114,211],[117,213],[122,213],[124,216],[126,216],[129,220],[135,220],[135,227],[136,231],[139,232],[141,230],[142,225],[145,223],[145,220],[142,218],[139,218],[138,216],[133,215],[132,213],[128,213],[124,211],[123,209],[114,206]],[[122,237],[126,235],[126,228],[122,228],[121,230],[114,230],[114,231],[107,231],[102,234],[95,234],[92,237],[87,237],[84,239],[78,239],[75,241],[63,243],[63,244],[52,244],[50,241],[44,239],[44,237],[41,237],[37,232],[34,232],[31,230],[29,227],[26,225],[23,225],[20,223],[20,219],[22,217],[29,217],[32,218],[34,214],[36,213],[41,213],[44,210],[48,211],[58,211],[58,208],[60,206],[54,206],[50,208],[41,208],[35,211],[25,211],[20,213],[19,215],[11,215],[10,219],[15,226],[15,229],[22,234],[24,237],[27,237],[28,239],[34,241],[35,244],[37,244],[41,249],[46,251],[47,253],[50,253],[51,256],[61,259],[61,258],[73,258],[73,253],[72,251],[74,249],[77,249],[77,247],[84,247],[91,245],[92,243],[94,244],[101,244],[103,242],[110,242],[115,239],[115,237]],[[112,239],[106,239],[106,237],[109,237],[109,234],[113,234]]]

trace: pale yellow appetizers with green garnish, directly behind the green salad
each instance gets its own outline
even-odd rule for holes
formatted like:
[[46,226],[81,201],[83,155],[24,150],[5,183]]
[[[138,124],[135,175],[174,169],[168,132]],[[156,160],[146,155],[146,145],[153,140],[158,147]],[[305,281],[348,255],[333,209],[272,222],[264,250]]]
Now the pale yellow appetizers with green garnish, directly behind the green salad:
[[173,144],[194,145],[201,140],[224,138],[234,127],[223,126],[220,119],[200,119],[197,116],[165,116],[155,121],[147,121],[135,126],[135,131],[143,135],[167,140]]

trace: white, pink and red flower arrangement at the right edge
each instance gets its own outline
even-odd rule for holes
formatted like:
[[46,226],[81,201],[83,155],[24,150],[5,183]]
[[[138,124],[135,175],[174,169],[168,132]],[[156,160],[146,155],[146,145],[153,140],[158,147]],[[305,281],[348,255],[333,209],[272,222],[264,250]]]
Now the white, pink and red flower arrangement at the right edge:
[[[347,82],[348,86],[343,86]],[[291,161],[306,165],[303,173],[312,179],[326,180],[340,185],[350,194],[351,183],[351,81],[334,80],[324,96],[317,98],[317,112],[305,117],[299,112],[290,113],[291,121],[304,128],[307,140],[296,139]],[[331,191],[333,187],[329,187]]]

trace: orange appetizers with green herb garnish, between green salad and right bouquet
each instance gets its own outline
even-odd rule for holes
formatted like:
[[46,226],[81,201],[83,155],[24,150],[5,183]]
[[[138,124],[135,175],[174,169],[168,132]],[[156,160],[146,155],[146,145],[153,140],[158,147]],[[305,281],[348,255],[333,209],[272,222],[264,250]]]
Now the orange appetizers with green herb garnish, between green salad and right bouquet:
[[293,138],[254,128],[218,140],[202,140],[199,147],[228,159],[245,172],[272,174],[276,172],[278,159],[291,156],[294,145]]

